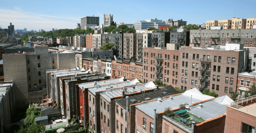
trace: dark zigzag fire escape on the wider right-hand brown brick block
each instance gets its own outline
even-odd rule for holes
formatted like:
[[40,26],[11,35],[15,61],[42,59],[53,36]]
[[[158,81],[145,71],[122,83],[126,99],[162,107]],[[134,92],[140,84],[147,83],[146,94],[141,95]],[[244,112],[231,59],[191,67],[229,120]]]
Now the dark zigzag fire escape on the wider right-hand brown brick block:
[[204,92],[205,90],[209,90],[210,86],[210,77],[211,77],[211,59],[200,59],[201,62],[201,68],[199,70],[201,71],[201,76],[199,78],[200,85],[199,90],[201,92]]

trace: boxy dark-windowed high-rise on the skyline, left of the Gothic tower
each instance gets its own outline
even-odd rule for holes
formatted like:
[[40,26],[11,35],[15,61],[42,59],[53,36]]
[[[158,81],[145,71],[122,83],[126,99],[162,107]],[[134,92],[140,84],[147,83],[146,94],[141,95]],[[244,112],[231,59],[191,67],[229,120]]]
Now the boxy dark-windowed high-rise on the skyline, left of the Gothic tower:
[[81,17],[81,29],[85,29],[86,24],[96,24],[97,26],[99,26],[100,17],[95,17],[94,15]]

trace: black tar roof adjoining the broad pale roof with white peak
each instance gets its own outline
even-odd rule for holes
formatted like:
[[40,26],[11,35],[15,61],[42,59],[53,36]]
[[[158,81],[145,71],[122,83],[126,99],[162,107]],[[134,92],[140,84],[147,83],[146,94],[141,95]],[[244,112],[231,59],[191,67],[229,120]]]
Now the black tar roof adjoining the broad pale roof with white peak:
[[[162,97],[162,92],[163,93],[167,92],[166,94],[163,94],[163,97],[166,97],[166,96],[169,96],[169,95],[175,95],[175,94],[178,94],[178,93],[183,93],[183,92],[177,91],[172,86],[167,86],[167,87],[164,87],[164,89],[159,89],[159,90],[156,90],[156,91],[146,92],[145,96],[143,94],[133,95],[133,96],[129,97],[128,108],[130,108],[129,105],[133,105],[135,103],[139,103],[139,102],[141,103],[142,101],[145,101],[145,98],[150,98],[149,100],[161,98]],[[131,103],[131,101],[130,101],[131,99],[136,100],[136,102]],[[123,106],[123,108],[126,107],[126,98],[117,99],[115,101],[119,105]]]

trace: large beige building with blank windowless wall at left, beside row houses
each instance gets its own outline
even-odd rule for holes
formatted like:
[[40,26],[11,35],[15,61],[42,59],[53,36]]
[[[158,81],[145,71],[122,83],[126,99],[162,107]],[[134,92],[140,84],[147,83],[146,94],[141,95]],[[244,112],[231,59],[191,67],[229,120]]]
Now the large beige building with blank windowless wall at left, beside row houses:
[[35,52],[4,54],[4,78],[14,82],[15,107],[25,108],[29,102],[39,103],[47,92],[46,70],[75,67],[75,54],[49,52],[48,46],[35,46]]

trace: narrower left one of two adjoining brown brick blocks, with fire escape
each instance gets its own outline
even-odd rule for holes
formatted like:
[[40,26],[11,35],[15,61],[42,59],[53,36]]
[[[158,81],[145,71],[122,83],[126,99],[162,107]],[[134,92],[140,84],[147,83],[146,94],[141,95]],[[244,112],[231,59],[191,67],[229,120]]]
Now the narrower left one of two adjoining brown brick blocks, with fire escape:
[[162,81],[163,84],[179,87],[180,84],[180,51],[167,47],[147,47],[144,51],[144,80]]

